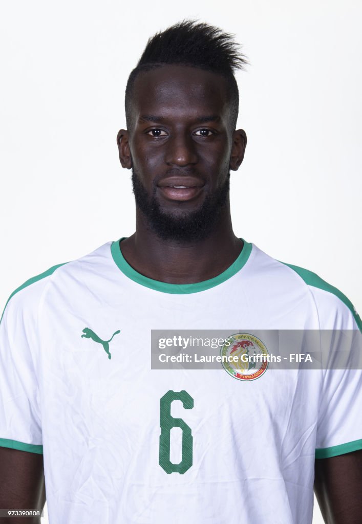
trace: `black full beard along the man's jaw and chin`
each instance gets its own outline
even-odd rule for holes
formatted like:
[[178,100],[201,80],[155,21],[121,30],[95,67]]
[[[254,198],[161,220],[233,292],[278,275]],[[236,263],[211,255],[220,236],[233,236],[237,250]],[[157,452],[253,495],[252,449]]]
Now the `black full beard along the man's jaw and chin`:
[[201,241],[216,228],[221,212],[229,199],[230,171],[222,186],[208,193],[199,209],[177,214],[161,209],[156,198],[156,185],[148,194],[140,177],[132,169],[132,186],[136,205],[144,215],[148,226],[163,240],[180,242]]

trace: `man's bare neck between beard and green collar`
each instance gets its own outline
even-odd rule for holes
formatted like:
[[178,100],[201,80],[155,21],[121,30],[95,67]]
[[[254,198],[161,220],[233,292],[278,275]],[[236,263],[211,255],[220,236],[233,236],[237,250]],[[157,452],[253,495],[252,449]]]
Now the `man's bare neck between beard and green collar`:
[[142,275],[167,283],[186,284],[214,278],[236,260],[242,241],[232,231],[230,206],[214,231],[202,241],[164,240],[151,231],[139,209],[136,232],[121,243],[127,262]]

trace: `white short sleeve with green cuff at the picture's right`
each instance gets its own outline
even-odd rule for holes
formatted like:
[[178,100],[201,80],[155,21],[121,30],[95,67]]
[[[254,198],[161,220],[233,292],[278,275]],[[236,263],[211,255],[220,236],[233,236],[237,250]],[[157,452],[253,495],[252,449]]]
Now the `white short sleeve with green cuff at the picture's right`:
[[[322,291],[318,291],[322,293]],[[324,297],[325,299],[326,297]],[[321,298],[318,297],[319,302]],[[323,370],[320,407],[317,421],[316,459],[343,455],[362,449],[362,332],[360,319],[352,308],[329,298],[329,318],[321,313],[322,325],[333,328],[322,331],[325,342],[331,341],[330,359]],[[325,311],[328,308],[324,308]],[[333,315],[331,311],[335,311]],[[344,355],[344,369],[334,365],[334,356]],[[359,358],[356,358],[358,357]],[[337,359],[336,359],[337,360]],[[340,358],[338,359],[340,363]],[[358,369],[359,368],[359,369]]]

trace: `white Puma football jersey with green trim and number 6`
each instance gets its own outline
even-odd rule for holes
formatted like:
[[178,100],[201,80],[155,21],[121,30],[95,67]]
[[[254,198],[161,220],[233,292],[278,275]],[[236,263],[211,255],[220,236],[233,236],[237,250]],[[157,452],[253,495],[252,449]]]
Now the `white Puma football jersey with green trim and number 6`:
[[361,329],[352,304],[246,241],[180,285],[120,241],[25,282],[0,324],[0,445],[44,454],[50,524],[311,523],[315,457],[362,449],[361,371],[151,369],[151,330]]

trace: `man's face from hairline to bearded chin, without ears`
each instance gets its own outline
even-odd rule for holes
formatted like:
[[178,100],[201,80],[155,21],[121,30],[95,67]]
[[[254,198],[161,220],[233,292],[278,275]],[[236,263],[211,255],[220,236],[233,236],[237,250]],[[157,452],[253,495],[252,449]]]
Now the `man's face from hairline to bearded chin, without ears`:
[[162,238],[205,238],[228,205],[226,80],[165,65],[135,80],[129,148],[136,204]]

